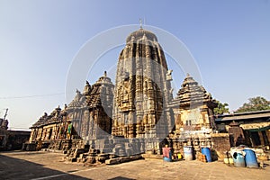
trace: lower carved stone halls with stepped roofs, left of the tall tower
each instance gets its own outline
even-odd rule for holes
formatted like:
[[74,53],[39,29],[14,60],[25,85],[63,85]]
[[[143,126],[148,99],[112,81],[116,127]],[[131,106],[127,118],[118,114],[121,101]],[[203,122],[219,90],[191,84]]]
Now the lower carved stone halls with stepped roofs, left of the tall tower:
[[88,143],[111,134],[113,87],[106,72],[94,85],[86,82],[83,94],[76,90],[64,110],[58,107],[49,115],[44,113],[33,124],[30,142],[84,139]]

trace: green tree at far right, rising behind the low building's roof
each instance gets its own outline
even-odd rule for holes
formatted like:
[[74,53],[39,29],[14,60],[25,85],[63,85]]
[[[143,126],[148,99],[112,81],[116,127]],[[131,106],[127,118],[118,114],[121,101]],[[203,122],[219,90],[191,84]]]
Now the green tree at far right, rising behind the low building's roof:
[[248,99],[248,103],[244,103],[236,112],[257,112],[270,110],[270,101],[266,98],[257,96]]

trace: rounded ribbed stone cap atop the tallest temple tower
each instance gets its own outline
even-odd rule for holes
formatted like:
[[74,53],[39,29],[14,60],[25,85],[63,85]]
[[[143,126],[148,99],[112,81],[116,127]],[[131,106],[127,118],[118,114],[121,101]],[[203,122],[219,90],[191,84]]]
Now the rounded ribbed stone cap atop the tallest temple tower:
[[128,38],[126,39],[126,42],[128,43],[130,40],[139,40],[142,39],[144,36],[148,40],[157,41],[157,36],[153,32],[140,28],[137,31],[131,32]]

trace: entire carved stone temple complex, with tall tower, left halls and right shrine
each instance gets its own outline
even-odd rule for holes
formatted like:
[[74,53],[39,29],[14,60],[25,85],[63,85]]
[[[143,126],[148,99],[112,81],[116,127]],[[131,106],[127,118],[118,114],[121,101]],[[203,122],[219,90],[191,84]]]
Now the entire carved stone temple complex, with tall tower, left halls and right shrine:
[[30,145],[92,163],[112,154],[160,154],[165,145],[175,155],[184,154],[185,146],[194,154],[202,147],[227,150],[229,134],[215,133],[217,103],[211,94],[187,74],[174,98],[171,74],[157,36],[142,28],[131,32],[119,55],[115,85],[106,72],[93,85],[86,82],[64,109],[44,113],[32,125]]

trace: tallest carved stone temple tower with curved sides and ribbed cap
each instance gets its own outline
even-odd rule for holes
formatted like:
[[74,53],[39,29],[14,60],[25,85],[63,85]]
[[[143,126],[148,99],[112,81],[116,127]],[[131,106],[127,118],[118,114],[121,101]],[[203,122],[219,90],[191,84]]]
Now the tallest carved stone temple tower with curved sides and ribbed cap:
[[131,32],[118,59],[112,135],[166,138],[172,119],[170,74],[157,36],[142,28]]

